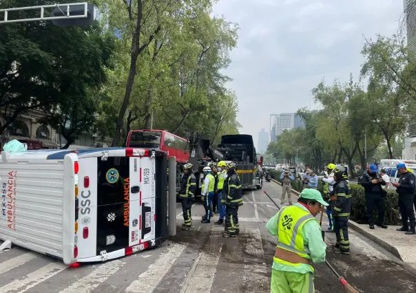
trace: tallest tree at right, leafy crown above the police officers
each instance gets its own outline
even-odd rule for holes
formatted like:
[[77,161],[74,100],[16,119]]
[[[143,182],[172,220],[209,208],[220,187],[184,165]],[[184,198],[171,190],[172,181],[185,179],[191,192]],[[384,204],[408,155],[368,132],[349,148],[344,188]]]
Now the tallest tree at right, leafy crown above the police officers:
[[414,98],[415,94],[414,81],[404,74],[406,64],[410,66],[411,63],[406,60],[402,42],[395,36],[390,39],[377,36],[375,43],[367,40],[362,54],[366,57],[362,78],[369,80],[363,106],[368,110],[371,123],[384,136],[393,158],[391,141],[406,131],[410,97]]

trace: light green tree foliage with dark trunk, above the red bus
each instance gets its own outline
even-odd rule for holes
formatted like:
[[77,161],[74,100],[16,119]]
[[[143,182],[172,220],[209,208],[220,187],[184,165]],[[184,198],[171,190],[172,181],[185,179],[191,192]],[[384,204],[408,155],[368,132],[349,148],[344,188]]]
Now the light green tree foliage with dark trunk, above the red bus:
[[120,34],[114,77],[124,80],[107,88],[112,105],[101,105],[106,116],[117,116],[115,144],[129,129],[167,129],[183,137],[198,132],[214,143],[238,133],[237,96],[220,73],[231,62],[238,26],[211,17],[214,1],[103,2],[110,29]]

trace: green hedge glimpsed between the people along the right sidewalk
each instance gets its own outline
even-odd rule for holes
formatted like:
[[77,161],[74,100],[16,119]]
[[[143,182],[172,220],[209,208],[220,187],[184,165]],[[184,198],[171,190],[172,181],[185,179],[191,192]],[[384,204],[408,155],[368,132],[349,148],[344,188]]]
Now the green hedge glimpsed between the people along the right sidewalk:
[[[270,176],[280,182],[280,175],[282,171],[278,170],[271,170]],[[292,188],[295,191],[301,192],[302,191],[302,180],[294,180],[292,182]],[[366,197],[364,194],[364,187],[360,184],[350,184],[351,190],[353,192],[353,204],[351,206],[351,216],[354,221],[364,220],[366,221]],[[322,180],[318,182],[318,191],[322,193],[322,196],[325,199],[328,199],[326,195],[324,195],[324,184],[322,184]],[[384,198],[384,202],[386,203],[386,215],[384,217],[384,221],[387,225],[397,225],[399,224],[399,206],[398,206],[398,195],[396,191],[387,190],[387,196]],[[377,211],[374,210],[373,213],[377,215]]]

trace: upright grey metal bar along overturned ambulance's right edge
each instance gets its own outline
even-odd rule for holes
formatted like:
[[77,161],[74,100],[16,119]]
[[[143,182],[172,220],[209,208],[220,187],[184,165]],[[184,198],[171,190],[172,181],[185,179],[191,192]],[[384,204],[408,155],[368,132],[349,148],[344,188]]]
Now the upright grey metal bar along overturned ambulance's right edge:
[[167,159],[167,167],[169,169],[168,190],[167,190],[167,228],[169,236],[176,235],[176,157]]

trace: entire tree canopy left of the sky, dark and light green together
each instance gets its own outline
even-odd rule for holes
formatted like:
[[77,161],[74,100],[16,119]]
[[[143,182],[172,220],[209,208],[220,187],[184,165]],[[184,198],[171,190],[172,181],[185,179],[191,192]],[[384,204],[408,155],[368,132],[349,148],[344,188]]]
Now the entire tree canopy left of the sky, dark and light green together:
[[[62,2],[5,0],[0,8]],[[238,25],[212,17],[215,2],[94,0],[109,11],[107,33],[99,23],[0,25],[0,107],[7,118],[0,132],[20,113],[41,108],[42,122],[67,146],[85,131],[114,144],[129,129],[150,127],[184,137],[198,132],[214,143],[238,133],[238,97],[221,73]]]

